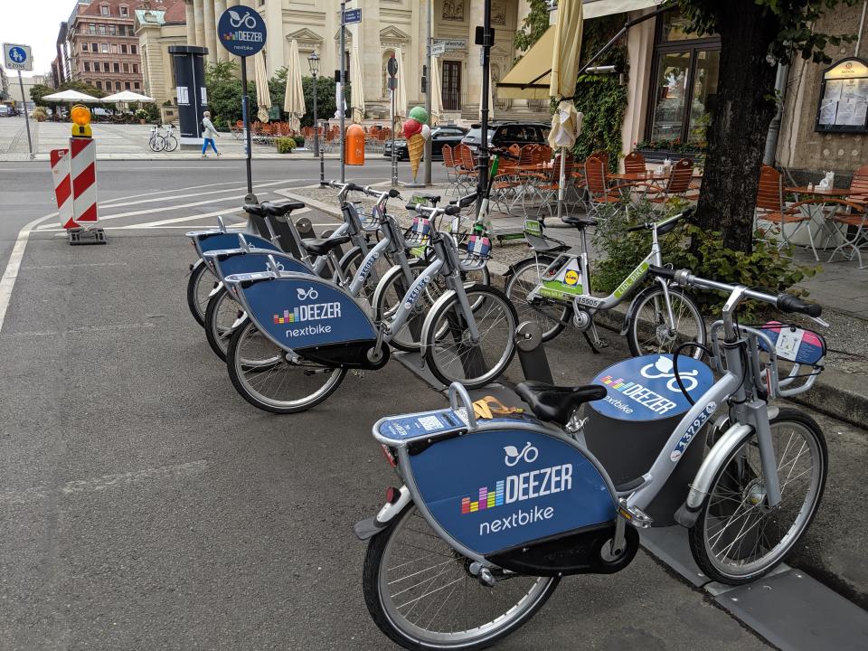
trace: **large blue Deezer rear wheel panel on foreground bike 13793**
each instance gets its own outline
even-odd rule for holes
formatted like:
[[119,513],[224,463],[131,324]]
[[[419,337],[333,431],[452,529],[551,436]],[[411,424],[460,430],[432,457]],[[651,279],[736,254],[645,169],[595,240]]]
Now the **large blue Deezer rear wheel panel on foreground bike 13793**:
[[533,429],[481,429],[410,455],[437,523],[483,555],[615,518],[615,500],[578,448]]

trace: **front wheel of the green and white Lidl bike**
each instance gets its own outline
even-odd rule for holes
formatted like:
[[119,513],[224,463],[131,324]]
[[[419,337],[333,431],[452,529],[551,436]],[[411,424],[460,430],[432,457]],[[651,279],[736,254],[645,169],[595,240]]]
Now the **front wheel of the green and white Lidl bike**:
[[[630,347],[630,354],[634,357],[639,357],[645,354],[672,353],[677,345],[684,344],[688,341],[686,337],[689,337],[690,341],[694,341],[697,344],[706,344],[707,335],[705,332],[705,321],[703,320],[702,312],[700,312],[696,301],[692,296],[690,296],[690,294],[685,293],[681,288],[670,287],[668,288],[668,291],[673,315],[677,322],[675,328],[667,328],[665,333],[663,333],[663,329],[666,325],[665,318],[667,316],[665,311],[661,311],[661,307],[665,305],[663,299],[663,288],[659,285],[655,285],[654,287],[647,288],[640,292],[637,294],[637,297],[633,299],[633,303],[630,306],[628,313],[627,344]],[[655,313],[654,318],[656,320],[656,327],[653,328],[653,332],[650,335],[651,338],[642,335],[641,338],[643,339],[643,342],[640,342],[639,329],[642,326],[640,325],[639,320],[644,314],[642,312],[643,308],[650,305],[652,301],[655,301],[653,310]],[[679,307],[676,307],[676,301],[680,302],[680,309]],[[684,308],[686,308],[687,312],[690,313],[692,319],[691,325],[693,325],[695,333],[679,337],[678,335],[683,334],[682,330],[686,329],[681,325]],[[644,327],[648,330],[647,325]],[[653,344],[654,341],[656,341],[656,345],[647,345],[649,343]],[[703,349],[694,347],[692,350],[685,351],[684,354],[699,359],[703,356]]]

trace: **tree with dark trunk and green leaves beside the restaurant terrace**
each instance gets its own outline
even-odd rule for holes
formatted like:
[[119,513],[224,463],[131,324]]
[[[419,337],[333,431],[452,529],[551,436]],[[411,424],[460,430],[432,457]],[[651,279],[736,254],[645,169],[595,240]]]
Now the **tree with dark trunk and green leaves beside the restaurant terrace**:
[[[721,36],[717,105],[697,218],[723,245],[750,253],[766,134],[776,112],[778,61],[831,61],[827,45],[854,40],[816,31],[816,21],[855,0],[672,0],[695,32]],[[694,249],[696,244],[694,243]]]

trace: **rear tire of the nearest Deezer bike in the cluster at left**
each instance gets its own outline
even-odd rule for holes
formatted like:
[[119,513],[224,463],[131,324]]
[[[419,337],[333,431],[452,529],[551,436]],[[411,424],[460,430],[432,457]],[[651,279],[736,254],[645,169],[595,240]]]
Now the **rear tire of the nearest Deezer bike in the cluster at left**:
[[[257,354],[250,354],[245,345],[253,337],[259,338],[259,345],[269,354],[269,358],[260,358]],[[256,325],[248,320],[240,325],[232,333],[229,347],[226,349],[226,367],[235,391],[239,392],[244,400],[254,407],[270,411],[271,413],[289,414],[313,409],[320,402],[325,401],[344,382],[346,369],[343,366],[325,367],[320,364],[306,363],[296,365],[288,363],[285,357],[286,351],[276,344],[269,342],[264,336],[259,335]],[[253,360],[260,360],[254,362]],[[287,382],[286,376],[293,373],[293,377]],[[295,390],[300,387],[300,380],[306,375],[326,375],[325,383],[316,391],[302,395],[297,400],[280,400],[272,395],[258,390],[251,378],[259,378],[260,381],[274,378],[278,373],[278,389],[286,388]],[[259,382],[261,387],[264,382]]]

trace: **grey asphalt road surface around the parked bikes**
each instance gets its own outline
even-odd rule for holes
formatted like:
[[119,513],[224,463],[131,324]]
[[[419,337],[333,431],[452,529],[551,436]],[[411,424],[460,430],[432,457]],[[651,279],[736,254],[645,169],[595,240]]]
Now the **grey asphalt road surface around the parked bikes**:
[[[0,179],[0,205],[33,211],[23,222],[52,210],[30,165],[12,186]],[[257,167],[255,183],[280,182],[260,198],[316,178],[298,165]],[[444,400],[396,362],[350,375],[304,414],[241,400],[184,303],[184,229],[234,211],[243,193],[238,166],[223,166],[101,165],[103,214],[120,215],[106,221],[109,244],[71,247],[51,220],[31,237],[0,331],[3,651],[393,648],[364,608],[352,531],[395,483],[370,427]],[[388,166],[375,171],[382,180]],[[367,181],[369,168],[359,172]],[[14,225],[0,228],[14,240]],[[567,334],[549,356],[558,381],[580,382],[618,353],[594,357]],[[518,378],[517,363],[509,373]],[[838,434],[832,504],[861,503],[847,475],[865,460],[864,435],[824,426]],[[854,542],[842,511],[823,511],[799,553],[809,564],[807,552],[831,550],[843,569],[816,566],[858,580],[846,554],[858,554],[864,525]],[[769,647],[639,552],[618,575],[565,580],[498,648]]]

